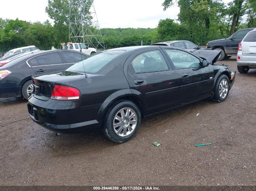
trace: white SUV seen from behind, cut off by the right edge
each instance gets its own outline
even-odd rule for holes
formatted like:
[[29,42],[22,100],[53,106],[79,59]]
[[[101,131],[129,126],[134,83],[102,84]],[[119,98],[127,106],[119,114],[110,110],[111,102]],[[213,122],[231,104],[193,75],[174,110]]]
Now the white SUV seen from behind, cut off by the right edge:
[[237,69],[246,73],[250,68],[256,68],[256,29],[251,30],[238,45]]

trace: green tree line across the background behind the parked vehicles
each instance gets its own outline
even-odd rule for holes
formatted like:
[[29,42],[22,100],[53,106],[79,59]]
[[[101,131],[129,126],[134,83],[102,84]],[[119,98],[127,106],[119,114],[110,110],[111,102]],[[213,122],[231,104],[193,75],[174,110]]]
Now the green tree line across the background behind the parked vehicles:
[[[85,7],[87,12],[90,3]],[[170,40],[205,45],[210,40],[229,37],[236,30],[256,27],[255,0],[233,0],[228,5],[221,0],[165,0],[162,5],[163,11],[178,6],[178,19],[160,20],[154,29],[102,28],[105,48],[138,46],[141,40],[143,45]],[[32,23],[0,18],[0,52],[29,45],[41,50],[60,48],[60,43],[68,42],[67,6],[68,0],[48,0],[45,11],[54,20],[53,25],[48,20]]]

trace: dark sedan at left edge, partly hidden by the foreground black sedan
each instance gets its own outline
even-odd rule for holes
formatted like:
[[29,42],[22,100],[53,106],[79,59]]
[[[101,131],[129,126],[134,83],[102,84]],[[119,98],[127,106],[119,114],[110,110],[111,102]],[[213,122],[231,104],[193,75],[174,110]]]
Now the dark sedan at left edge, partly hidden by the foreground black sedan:
[[31,76],[65,70],[87,55],[71,50],[46,50],[24,53],[0,66],[0,97],[25,99],[33,91]]

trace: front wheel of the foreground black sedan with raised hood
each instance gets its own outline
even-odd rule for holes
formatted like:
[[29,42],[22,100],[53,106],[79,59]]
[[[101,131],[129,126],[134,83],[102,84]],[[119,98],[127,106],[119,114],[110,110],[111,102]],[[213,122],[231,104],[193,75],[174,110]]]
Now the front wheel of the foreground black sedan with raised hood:
[[216,82],[214,89],[213,100],[216,102],[222,102],[228,97],[229,93],[229,79],[227,75],[221,75]]

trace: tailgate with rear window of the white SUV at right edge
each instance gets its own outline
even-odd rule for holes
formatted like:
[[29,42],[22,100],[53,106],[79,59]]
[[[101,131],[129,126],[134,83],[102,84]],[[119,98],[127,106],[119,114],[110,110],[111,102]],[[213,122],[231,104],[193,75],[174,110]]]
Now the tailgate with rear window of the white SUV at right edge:
[[241,44],[244,56],[256,56],[256,30],[250,31]]

